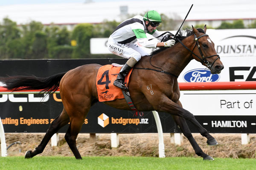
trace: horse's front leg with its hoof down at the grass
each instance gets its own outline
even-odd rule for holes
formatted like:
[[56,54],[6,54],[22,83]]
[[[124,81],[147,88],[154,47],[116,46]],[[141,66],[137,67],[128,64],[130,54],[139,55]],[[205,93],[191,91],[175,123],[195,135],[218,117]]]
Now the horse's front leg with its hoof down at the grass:
[[204,158],[204,160],[214,160],[211,156],[205,154],[203,150],[199,147],[197,142],[195,141],[194,137],[192,136],[191,131],[189,130],[189,126],[186,123],[186,120],[183,117],[180,116],[172,116],[177,125],[180,127],[180,130],[182,131],[183,135],[189,140],[190,144],[192,145],[193,149],[195,150],[195,153],[198,156],[201,156]]

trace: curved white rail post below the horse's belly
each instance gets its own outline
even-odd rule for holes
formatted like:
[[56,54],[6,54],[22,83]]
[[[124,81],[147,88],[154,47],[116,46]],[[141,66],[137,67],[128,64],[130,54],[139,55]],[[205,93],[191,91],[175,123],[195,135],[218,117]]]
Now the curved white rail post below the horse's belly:
[[159,118],[159,115],[157,111],[152,111],[154,115],[154,119],[157,124],[157,132],[158,132],[158,139],[159,139],[159,144],[158,144],[158,150],[159,150],[159,158],[164,158],[164,143],[163,143],[163,129],[162,129],[162,124]]

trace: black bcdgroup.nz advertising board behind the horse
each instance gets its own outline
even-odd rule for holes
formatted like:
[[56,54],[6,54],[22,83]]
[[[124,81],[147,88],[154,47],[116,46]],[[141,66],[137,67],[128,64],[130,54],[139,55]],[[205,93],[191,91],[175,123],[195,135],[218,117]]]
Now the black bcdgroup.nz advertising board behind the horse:
[[[125,59],[72,59],[72,60],[12,60],[0,62],[0,76],[33,74],[48,77],[59,72],[68,71],[77,66],[90,63],[124,64]],[[51,122],[61,113],[63,105],[59,94],[42,96],[38,94],[2,94],[0,95],[0,117],[6,133],[28,132],[44,133]],[[157,133],[154,116],[145,112],[143,117],[133,117],[133,111],[111,108],[103,103],[92,106],[82,133]],[[161,114],[163,130],[173,132],[177,126],[172,116]],[[65,133],[68,125],[61,128]]]

